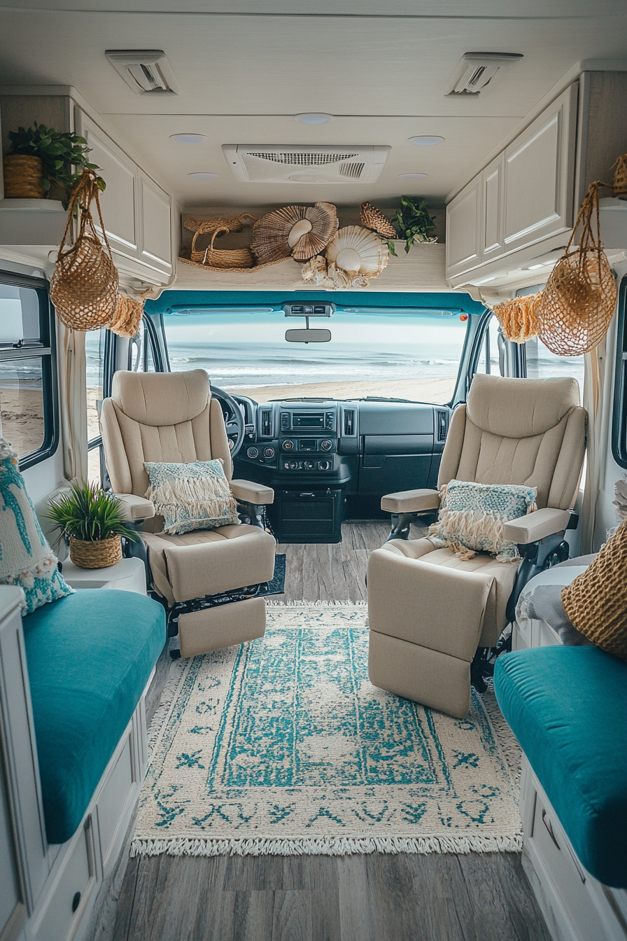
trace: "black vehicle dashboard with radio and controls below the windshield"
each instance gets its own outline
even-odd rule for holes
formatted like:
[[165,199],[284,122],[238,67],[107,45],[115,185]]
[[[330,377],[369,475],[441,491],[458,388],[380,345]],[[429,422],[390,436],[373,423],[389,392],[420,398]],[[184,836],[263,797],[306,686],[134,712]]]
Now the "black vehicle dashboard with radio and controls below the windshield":
[[451,410],[393,399],[234,396],[245,418],[235,474],[274,488],[340,488],[383,496],[436,486]]

